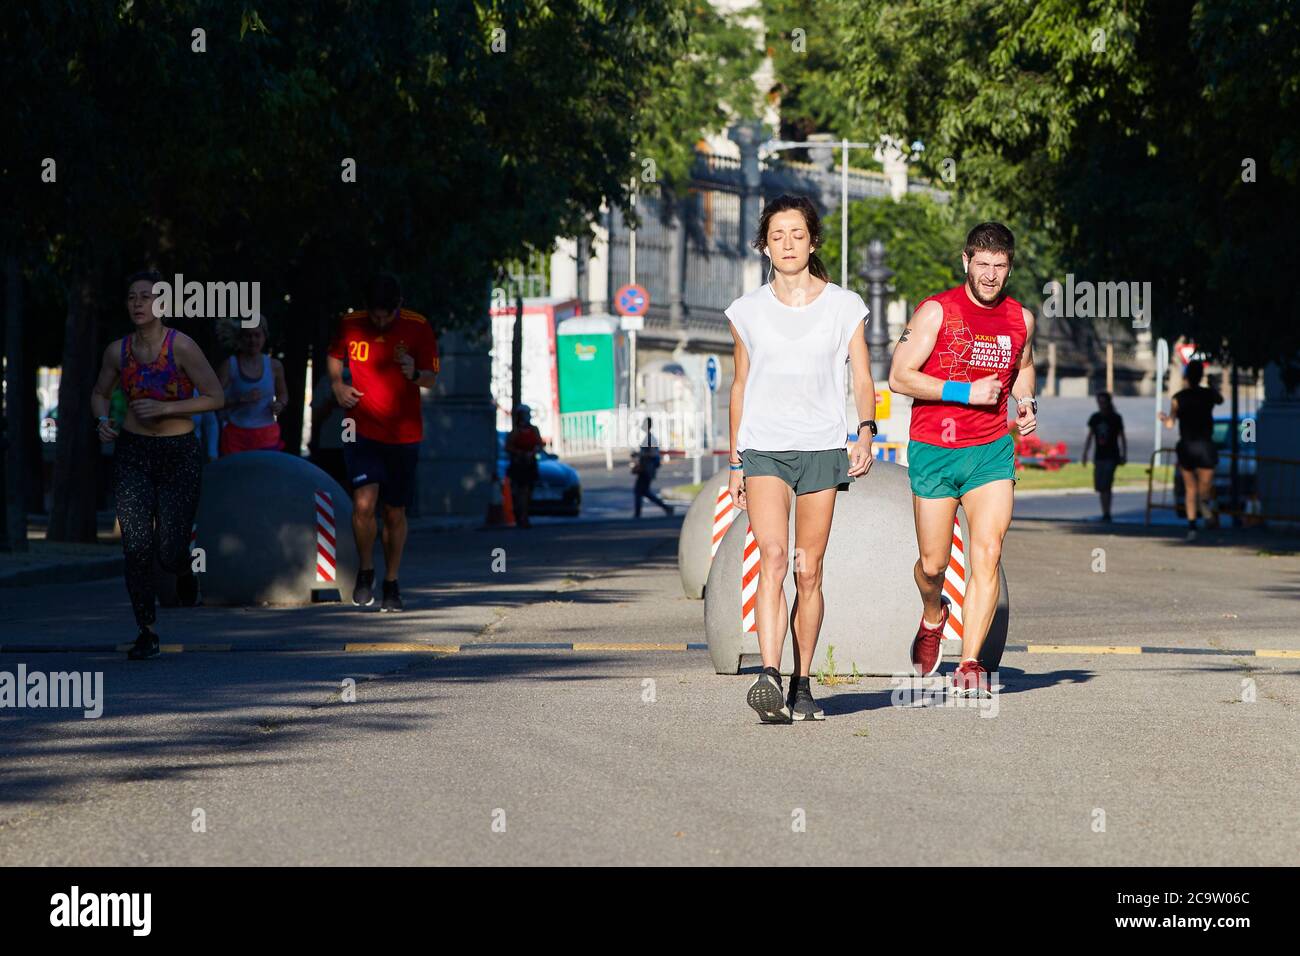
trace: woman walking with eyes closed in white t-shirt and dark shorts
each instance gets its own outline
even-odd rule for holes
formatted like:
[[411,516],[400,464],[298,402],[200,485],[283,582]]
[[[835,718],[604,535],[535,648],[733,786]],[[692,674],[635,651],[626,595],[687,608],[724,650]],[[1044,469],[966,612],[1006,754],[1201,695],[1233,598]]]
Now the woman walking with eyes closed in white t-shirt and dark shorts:
[[[763,672],[746,701],[764,723],[820,721],[810,666],[822,626],[822,559],[840,485],[867,473],[876,424],[875,382],[862,297],[831,282],[814,251],[822,221],[803,196],[783,195],[759,217],[755,250],[768,280],[727,307],[736,339],[731,390],[731,484],[749,511],[759,551],[755,617]],[[775,276],[774,276],[775,272]],[[849,441],[845,368],[853,363],[858,440]],[[859,431],[861,429],[861,431]],[[790,503],[794,510],[793,613],[785,606]],[[794,632],[794,674],[781,689],[785,630]]]

